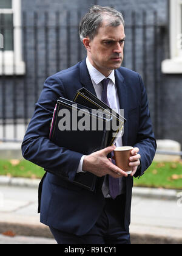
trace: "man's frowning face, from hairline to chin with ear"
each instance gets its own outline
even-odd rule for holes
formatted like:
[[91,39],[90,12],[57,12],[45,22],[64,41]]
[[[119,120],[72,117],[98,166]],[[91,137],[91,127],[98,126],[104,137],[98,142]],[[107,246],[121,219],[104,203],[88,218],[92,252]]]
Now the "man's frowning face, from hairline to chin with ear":
[[111,27],[103,21],[93,40],[83,40],[90,63],[106,77],[123,62],[124,38],[123,24]]

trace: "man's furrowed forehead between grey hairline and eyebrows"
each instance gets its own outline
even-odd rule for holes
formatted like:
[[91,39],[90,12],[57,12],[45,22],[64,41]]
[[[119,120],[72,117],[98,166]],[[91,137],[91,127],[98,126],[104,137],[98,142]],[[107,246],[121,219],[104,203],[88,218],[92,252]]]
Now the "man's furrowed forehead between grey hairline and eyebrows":
[[123,39],[125,37],[124,34],[124,26],[120,24],[119,26],[110,26],[107,21],[103,21],[103,24],[98,29],[98,33],[95,35],[96,38],[113,38],[113,39]]

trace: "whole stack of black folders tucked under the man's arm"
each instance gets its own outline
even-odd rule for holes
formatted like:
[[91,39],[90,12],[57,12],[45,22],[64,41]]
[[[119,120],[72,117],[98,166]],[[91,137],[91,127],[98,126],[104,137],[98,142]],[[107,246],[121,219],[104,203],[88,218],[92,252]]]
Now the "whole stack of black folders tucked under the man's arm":
[[[113,119],[118,124],[117,130],[112,129]],[[49,139],[60,147],[89,155],[114,144],[117,136],[121,136],[125,121],[104,102],[81,88],[73,101],[65,98],[57,101]],[[96,180],[97,177],[90,172],[79,172],[73,183],[94,191]]]

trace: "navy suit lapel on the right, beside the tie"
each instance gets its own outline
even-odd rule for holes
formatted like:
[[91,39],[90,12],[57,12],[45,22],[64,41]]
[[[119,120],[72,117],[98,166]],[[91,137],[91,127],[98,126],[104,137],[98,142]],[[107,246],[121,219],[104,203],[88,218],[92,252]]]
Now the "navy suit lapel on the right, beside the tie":
[[[118,97],[120,101],[120,108],[124,110],[124,118],[128,117],[128,97],[127,97],[127,87],[124,84],[124,77],[120,73],[119,69],[115,70],[115,80],[116,87],[118,90]],[[128,137],[128,122],[124,124],[124,135],[123,135],[123,146],[127,146]]]

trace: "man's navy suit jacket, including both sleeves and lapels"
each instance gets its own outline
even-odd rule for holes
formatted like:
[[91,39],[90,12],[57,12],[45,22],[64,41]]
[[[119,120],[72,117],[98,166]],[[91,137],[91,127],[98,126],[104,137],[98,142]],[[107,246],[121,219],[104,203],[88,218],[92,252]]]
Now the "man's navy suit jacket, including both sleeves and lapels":
[[[129,69],[116,69],[115,80],[120,108],[124,109],[127,119],[123,145],[140,149],[141,168],[135,174],[137,177],[152,163],[156,150],[147,94],[140,75]],[[56,146],[49,140],[49,130],[57,99],[64,97],[72,100],[76,91],[82,87],[96,95],[86,59],[45,80],[22,143],[25,159],[52,171],[44,175],[39,185],[41,222],[77,235],[83,235],[93,227],[103,210],[105,199],[101,186],[93,193],[60,177],[62,174],[70,181],[74,180],[82,154]],[[129,230],[133,178],[128,176],[125,182],[124,225]]]

